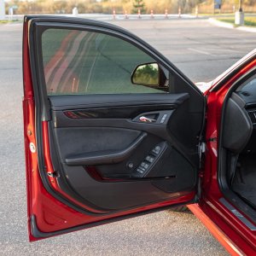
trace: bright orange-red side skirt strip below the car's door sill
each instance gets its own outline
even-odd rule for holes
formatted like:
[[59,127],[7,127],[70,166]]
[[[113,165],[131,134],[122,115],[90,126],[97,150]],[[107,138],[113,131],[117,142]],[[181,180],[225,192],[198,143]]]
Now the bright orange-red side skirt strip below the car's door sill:
[[218,228],[216,224],[214,224],[201,210],[201,207],[198,204],[192,204],[187,206],[191,212],[195,214],[196,218],[199,218],[201,222],[207,227],[207,230],[209,230],[212,233],[212,236],[214,236],[219,243],[227,250],[230,255],[244,255],[241,250],[236,247],[236,245],[230,241],[229,237],[224,234],[222,230]]

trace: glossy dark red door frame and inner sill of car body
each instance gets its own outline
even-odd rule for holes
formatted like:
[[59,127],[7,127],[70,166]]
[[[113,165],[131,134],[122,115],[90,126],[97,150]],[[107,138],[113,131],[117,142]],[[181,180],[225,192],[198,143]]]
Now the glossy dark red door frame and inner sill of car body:
[[[253,56],[253,60],[247,63]],[[212,221],[218,225],[224,233],[230,237],[230,241],[234,241],[236,246],[239,246],[243,253],[253,255],[256,252],[256,232],[249,230],[241,221],[236,218],[219,199],[224,197],[218,183],[218,135],[221,125],[222,109],[224,99],[232,84],[240,79],[245,73],[256,67],[255,51],[247,55],[241,61],[236,63],[230,70],[216,79],[217,82],[212,84],[212,88],[207,90],[207,127],[206,127],[206,142],[207,152],[205,154],[205,170],[202,178],[202,192],[199,206],[201,210],[207,214]],[[224,84],[222,81],[229,74],[236,71]],[[214,88],[218,87],[214,91]],[[212,141],[211,138],[215,138]]]

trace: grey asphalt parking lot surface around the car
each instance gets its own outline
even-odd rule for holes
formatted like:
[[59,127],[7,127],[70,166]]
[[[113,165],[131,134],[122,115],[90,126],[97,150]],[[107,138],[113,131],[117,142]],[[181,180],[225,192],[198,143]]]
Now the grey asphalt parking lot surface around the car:
[[[255,47],[255,34],[207,20],[114,20],[195,82],[210,81]],[[226,255],[189,212],[163,211],[29,243],[22,137],[21,24],[0,26],[0,254]]]

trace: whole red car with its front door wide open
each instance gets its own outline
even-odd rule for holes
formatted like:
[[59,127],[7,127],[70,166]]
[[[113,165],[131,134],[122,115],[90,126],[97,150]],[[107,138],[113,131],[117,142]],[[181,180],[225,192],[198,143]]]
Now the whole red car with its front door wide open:
[[256,50],[203,94],[157,50],[96,20],[26,16],[29,240],[189,205],[256,253]]

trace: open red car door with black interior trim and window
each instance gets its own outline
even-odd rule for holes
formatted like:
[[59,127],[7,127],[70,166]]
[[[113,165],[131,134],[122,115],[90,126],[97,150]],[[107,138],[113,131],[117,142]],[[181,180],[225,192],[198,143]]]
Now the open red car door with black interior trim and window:
[[196,201],[205,98],[150,45],[26,16],[23,73],[30,241]]

